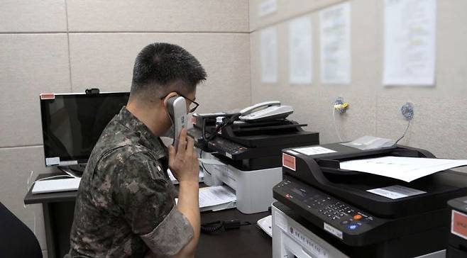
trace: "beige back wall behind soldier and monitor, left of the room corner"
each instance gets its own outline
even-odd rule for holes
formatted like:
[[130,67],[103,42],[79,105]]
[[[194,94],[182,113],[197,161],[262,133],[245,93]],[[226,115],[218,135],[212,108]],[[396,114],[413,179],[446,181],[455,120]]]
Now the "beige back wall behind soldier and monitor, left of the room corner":
[[[136,54],[156,41],[182,45],[204,65],[201,112],[248,106],[248,1],[10,1],[0,3],[0,201],[47,255],[42,208],[23,207],[31,171],[44,166],[41,92],[128,91]],[[35,226],[34,226],[35,225]]]

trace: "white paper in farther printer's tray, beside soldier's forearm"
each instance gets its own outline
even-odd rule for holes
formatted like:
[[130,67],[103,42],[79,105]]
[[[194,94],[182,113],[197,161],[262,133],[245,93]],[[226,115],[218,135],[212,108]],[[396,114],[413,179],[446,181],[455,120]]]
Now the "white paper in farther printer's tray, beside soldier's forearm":
[[229,186],[209,186],[199,189],[199,208],[216,206],[236,201],[237,197]]

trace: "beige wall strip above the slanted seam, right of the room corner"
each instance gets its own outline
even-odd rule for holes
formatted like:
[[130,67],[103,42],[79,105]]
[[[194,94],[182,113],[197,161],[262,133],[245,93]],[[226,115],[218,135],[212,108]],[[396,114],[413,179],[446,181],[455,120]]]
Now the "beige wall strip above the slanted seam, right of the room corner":
[[273,23],[287,21],[290,18],[301,16],[312,11],[324,9],[333,4],[344,2],[343,0],[278,0],[278,10],[266,16],[259,17],[258,6],[265,0],[250,1],[250,31],[258,30]]

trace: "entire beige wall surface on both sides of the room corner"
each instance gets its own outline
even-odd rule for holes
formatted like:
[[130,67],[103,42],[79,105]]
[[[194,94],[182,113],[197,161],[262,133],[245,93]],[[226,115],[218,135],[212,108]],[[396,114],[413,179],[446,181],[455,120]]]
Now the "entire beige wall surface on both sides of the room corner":
[[[180,44],[207,69],[200,112],[278,99],[295,107],[323,143],[336,142],[332,103],[350,102],[336,123],[343,140],[361,135],[398,138],[407,122],[400,106],[412,101],[415,118],[403,144],[439,157],[466,158],[467,2],[438,1],[436,86],[381,85],[383,0],[351,1],[351,85],[319,82],[319,10],[341,0],[278,0],[278,11],[258,18],[263,0],[12,1],[0,4],[0,201],[35,228],[45,248],[42,209],[23,207],[31,171],[43,162],[38,94],[127,91],[134,57],[155,41]],[[309,15],[313,26],[313,83],[288,84],[287,23]],[[259,31],[277,26],[279,82],[260,82]],[[35,226],[34,226],[35,225]]]

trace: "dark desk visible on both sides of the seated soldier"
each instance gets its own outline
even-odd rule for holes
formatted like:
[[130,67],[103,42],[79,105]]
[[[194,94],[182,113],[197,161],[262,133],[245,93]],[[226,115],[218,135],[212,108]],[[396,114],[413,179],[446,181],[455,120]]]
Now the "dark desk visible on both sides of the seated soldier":
[[[59,173],[40,174],[35,180],[57,174]],[[24,197],[25,204],[43,205],[48,257],[63,257],[70,249],[70,230],[76,196],[77,191],[32,194],[29,189]],[[256,221],[267,215],[270,215],[270,212],[243,214],[237,209],[201,213],[202,223],[238,219],[253,225],[243,226],[237,230],[219,230],[211,234],[201,234],[196,257],[272,257],[271,238],[263,230],[256,228]]]

